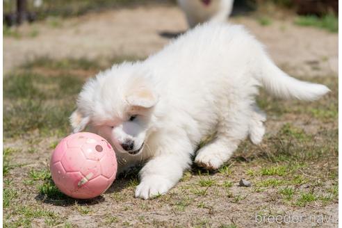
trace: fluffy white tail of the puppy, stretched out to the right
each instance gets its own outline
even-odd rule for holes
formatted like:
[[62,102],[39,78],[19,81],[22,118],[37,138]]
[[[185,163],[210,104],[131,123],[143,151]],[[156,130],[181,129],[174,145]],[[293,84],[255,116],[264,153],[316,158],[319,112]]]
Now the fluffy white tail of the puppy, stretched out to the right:
[[256,75],[256,78],[266,91],[276,97],[313,101],[330,91],[327,86],[300,81],[288,76],[270,58],[264,58],[263,63],[258,68],[259,74]]

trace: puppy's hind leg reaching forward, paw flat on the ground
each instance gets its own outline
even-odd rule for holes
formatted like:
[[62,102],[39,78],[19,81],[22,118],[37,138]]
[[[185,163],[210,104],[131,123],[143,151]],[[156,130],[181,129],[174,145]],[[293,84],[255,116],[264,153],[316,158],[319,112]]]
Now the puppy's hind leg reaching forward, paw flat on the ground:
[[225,107],[218,123],[216,137],[197,152],[195,163],[209,170],[217,170],[228,161],[250,131],[250,117],[253,115],[250,103],[236,101],[234,108]]

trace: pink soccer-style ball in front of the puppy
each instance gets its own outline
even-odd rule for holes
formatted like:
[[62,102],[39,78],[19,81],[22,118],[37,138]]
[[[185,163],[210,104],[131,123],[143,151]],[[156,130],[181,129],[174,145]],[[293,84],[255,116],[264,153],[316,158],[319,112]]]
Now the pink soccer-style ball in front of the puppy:
[[63,138],[50,161],[51,176],[60,191],[90,199],[111,186],[117,172],[115,152],[95,133],[80,132]]

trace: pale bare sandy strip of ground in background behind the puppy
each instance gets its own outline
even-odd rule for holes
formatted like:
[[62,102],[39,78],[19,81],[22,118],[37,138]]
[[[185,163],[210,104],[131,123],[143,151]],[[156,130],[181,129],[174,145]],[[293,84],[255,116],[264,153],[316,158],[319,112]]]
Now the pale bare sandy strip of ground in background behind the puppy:
[[[297,76],[337,74],[338,35],[293,25],[293,19],[273,20],[261,26],[250,17],[234,17],[263,42],[272,58]],[[145,6],[109,10],[60,20],[58,26],[40,22],[20,27],[22,38],[3,39],[4,72],[38,56],[51,58],[141,56],[169,42],[161,33],[178,33],[187,28],[184,15],[175,6]],[[38,35],[31,37],[30,33]],[[26,34],[26,35],[25,35]]]

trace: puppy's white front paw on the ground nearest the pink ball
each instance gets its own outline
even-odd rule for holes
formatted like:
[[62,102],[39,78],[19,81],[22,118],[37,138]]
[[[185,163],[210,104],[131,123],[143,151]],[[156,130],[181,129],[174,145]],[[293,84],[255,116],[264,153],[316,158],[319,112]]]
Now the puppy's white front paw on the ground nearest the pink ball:
[[145,177],[136,187],[136,197],[149,199],[162,195],[172,188],[172,181],[158,175]]

